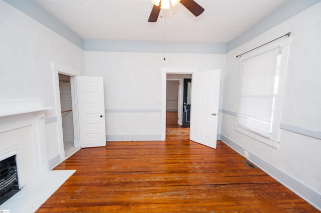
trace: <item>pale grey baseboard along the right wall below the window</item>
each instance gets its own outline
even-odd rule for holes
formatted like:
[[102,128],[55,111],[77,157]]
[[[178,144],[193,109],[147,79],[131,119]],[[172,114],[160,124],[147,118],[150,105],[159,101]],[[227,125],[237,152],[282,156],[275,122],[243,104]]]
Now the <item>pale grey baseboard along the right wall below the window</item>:
[[309,202],[311,205],[313,205],[317,209],[321,210],[321,203],[319,202],[321,194],[317,193],[316,191],[314,191],[313,189],[304,185],[300,181],[294,179],[290,175],[284,173],[283,171],[281,171],[278,168],[274,167],[273,165],[269,164],[265,160],[261,159],[259,156],[252,154],[251,152],[246,150],[244,147],[237,144],[232,139],[224,136],[223,134],[221,134],[221,140],[241,155],[242,155],[243,151],[247,151],[248,152],[247,159],[249,159],[256,166],[261,168],[267,174],[269,174],[270,176],[275,178],[277,181],[282,183],[284,186],[286,186],[287,188],[289,188],[290,190],[295,192],[297,195],[302,197],[304,200]]

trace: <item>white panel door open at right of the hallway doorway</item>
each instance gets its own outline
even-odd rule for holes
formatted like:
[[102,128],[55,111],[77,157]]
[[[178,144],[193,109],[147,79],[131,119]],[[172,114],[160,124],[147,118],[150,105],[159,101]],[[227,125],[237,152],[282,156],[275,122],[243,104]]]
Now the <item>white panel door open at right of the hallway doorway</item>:
[[220,69],[194,73],[190,139],[216,148],[220,95]]

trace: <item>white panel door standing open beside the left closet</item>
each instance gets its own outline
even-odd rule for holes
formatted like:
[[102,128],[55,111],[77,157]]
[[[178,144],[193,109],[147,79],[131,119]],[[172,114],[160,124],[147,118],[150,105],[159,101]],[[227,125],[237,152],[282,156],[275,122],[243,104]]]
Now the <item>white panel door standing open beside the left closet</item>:
[[80,147],[106,145],[102,77],[76,76]]

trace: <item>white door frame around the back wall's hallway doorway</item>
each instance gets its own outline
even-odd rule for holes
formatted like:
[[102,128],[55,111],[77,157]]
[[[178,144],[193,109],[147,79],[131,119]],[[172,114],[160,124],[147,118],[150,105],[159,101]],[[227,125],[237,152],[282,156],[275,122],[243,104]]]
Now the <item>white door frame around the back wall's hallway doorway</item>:
[[[198,67],[162,67],[162,133],[161,140],[166,139],[166,81],[167,74],[193,74],[198,72]],[[192,97],[193,98],[193,97]],[[183,107],[183,106],[182,106]]]

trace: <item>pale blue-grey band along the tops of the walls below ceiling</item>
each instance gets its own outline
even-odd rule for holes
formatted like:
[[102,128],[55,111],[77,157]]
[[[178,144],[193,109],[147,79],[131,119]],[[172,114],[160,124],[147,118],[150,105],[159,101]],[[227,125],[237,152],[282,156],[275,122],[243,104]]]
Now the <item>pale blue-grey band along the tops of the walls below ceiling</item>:
[[[87,51],[164,52],[164,42],[84,40],[34,0],[4,0]],[[229,43],[167,42],[168,53],[225,54],[321,0],[290,0]]]

